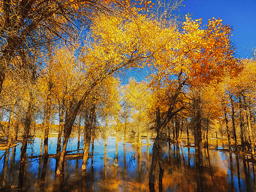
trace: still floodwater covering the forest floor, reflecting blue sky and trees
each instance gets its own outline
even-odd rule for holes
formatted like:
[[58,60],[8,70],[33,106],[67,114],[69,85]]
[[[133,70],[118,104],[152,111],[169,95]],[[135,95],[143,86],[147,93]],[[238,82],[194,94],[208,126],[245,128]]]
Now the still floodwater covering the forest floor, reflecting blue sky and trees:
[[[139,146],[123,143],[119,138],[116,148],[115,138],[94,141],[94,152],[88,159],[86,175],[81,173],[82,159],[65,161],[64,175],[54,177],[56,160],[28,158],[24,173],[24,191],[149,191],[148,173],[152,158],[152,143],[141,140]],[[132,140],[131,140],[132,141]],[[147,143],[148,142],[148,143]],[[40,138],[28,145],[27,156],[40,154]],[[49,154],[56,153],[57,138],[49,138]],[[223,142],[212,144],[203,150],[203,166],[196,166],[195,148],[163,143],[163,191],[255,191],[255,163],[245,161],[242,156],[216,150],[227,147]],[[83,147],[83,138],[80,146]],[[7,162],[4,150],[0,150],[0,191],[15,191],[19,184],[20,147],[10,148]],[[77,138],[70,138],[67,150],[77,149]],[[91,145],[92,149],[92,145]],[[90,150],[91,151],[91,150]],[[76,152],[74,152],[76,153]],[[46,168],[42,177],[43,168]],[[156,191],[159,168],[156,169]],[[4,188],[3,188],[4,183]]]

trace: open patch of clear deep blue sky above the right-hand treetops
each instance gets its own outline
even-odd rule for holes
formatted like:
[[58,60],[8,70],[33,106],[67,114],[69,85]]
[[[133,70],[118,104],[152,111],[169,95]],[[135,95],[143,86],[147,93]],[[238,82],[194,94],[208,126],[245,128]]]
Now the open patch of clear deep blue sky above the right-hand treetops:
[[252,48],[256,48],[256,0],[185,0],[183,4],[180,13],[190,13],[193,19],[202,17],[203,24],[212,17],[230,24],[236,57],[252,58]]

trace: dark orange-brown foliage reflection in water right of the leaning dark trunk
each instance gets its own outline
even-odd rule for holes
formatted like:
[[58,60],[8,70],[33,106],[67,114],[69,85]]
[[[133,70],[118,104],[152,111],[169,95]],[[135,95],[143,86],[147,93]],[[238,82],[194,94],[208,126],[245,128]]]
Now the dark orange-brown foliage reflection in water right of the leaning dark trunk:
[[[213,168],[211,167],[211,164],[208,164],[207,166],[202,164],[191,166],[189,158],[185,161],[185,158],[180,158],[182,154],[180,154],[180,148],[178,146],[179,145],[174,146],[174,150],[169,150],[169,152],[173,152],[173,156],[176,157],[176,159],[173,159],[173,163],[170,164],[168,161],[166,161],[168,157],[163,160],[164,168],[168,168],[168,171],[164,172],[163,177],[164,190],[229,191],[226,179],[227,171],[219,168]],[[178,166],[175,161],[178,163]],[[207,162],[205,161],[203,163],[206,164]],[[156,187],[158,188],[157,185]]]

